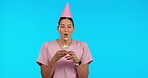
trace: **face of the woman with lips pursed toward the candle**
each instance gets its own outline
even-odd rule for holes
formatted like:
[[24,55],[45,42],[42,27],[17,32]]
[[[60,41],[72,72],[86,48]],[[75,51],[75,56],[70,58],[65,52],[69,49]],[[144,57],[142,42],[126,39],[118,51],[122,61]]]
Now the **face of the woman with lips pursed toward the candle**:
[[62,19],[58,31],[62,39],[70,38],[74,31],[72,22],[69,19]]

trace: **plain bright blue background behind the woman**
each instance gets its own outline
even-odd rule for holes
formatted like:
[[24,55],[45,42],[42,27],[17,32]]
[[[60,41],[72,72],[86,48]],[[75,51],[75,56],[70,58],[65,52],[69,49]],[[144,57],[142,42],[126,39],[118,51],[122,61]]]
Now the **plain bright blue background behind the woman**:
[[0,78],[41,78],[42,44],[69,2],[94,61],[89,78],[148,78],[148,0],[0,0]]

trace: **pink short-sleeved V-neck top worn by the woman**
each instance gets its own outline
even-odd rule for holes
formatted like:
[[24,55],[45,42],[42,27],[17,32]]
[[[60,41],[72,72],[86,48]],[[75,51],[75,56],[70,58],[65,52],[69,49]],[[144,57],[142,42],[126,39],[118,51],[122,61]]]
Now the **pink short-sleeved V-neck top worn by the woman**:
[[[61,50],[57,40],[47,41],[42,45],[37,63],[48,65],[55,53]],[[70,45],[70,50],[74,51],[82,64],[93,61],[88,45],[83,41],[73,40]],[[57,61],[53,78],[78,78],[75,65],[72,60],[66,60],[62,57]]]

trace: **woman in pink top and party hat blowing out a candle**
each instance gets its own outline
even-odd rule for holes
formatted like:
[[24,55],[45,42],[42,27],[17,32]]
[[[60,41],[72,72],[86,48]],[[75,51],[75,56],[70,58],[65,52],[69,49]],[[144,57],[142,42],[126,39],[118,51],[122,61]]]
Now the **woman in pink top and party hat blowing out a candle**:
[[[87,78],[92,56],[85,42],[73,40],[74,22],[68,3],[59,19],[60,39],[43,44],[37,63],[43,78]],[[68,49],[63,47],[68,46]]]

